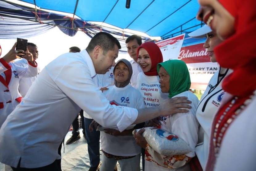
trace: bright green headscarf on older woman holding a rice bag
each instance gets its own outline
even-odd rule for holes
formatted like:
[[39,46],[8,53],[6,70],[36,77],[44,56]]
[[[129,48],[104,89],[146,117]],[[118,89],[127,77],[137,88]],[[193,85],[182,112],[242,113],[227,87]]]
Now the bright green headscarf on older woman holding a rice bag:
[[159,73],[161,66],[163,66],[170,75],[169,98],[189,90],[191,81],[185,62],[181,60],[169,60],[159,63],[157,64],[157,73]]

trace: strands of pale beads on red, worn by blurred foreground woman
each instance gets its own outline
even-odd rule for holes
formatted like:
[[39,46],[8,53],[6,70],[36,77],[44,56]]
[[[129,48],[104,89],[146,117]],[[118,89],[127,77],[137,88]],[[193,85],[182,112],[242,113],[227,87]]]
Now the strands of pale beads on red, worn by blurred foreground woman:
[[234,119],[242,112],[247,105],[249,105],[256,95],[256,90],[249,96],[238,98],[234,97],[231,101],[225,104],[218,113],[215,121],[215,129],[213,133],[214,152],[217,156],[221,147],[221,141],[226,130]]

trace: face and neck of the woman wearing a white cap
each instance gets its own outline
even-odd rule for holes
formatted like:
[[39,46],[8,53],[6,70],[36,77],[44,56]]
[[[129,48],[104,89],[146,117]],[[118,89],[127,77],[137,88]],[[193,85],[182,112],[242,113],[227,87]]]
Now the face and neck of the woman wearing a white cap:
[[222,40],[213,32],[206,34],[207,39],[204,43],[204,48],[207,49],[208,56],[211,57],[211,62],[217,62],[214,54],[214,47],[219,45]]

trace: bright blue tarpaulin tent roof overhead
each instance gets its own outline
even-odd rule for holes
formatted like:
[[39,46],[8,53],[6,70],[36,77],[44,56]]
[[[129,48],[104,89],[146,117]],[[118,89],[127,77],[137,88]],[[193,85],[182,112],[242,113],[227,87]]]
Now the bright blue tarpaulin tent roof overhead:
[[[19,1],[17,1],[19,2]],[[16,3],[17,3],[16,2]],[[195,16],[197,0],[23,0],[37,9],[71,13],[85,22],[104,22],[121,29],[136,30],[163,39],[201,27]],[[37,10],[39,12],[39,10]]]

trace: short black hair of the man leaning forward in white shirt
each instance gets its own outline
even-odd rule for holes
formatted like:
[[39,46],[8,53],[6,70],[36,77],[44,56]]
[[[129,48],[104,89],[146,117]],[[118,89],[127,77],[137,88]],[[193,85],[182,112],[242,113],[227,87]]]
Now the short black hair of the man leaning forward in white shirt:
[[93,36],[86,50],[88,53],[94,50],[94,47],[101,46],[103,54],[105,55],[109,50],[114,50],[114,46],[117,45],[118,49],[121,49],[121,45],[117,38],[106,32],[99,32]]

